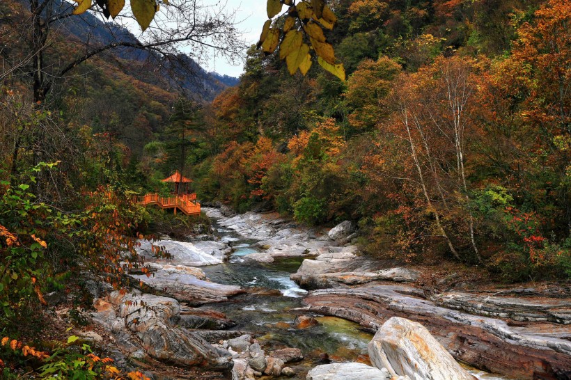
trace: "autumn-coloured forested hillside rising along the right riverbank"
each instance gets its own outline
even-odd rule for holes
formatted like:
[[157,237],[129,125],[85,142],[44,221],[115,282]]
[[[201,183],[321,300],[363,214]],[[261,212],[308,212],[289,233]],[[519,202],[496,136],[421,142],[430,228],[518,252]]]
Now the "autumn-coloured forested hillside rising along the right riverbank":
[[372,255],[570,270],[568,1],[336,1],[347,82],[248,52],[187,162],[203,199],[357,221]]

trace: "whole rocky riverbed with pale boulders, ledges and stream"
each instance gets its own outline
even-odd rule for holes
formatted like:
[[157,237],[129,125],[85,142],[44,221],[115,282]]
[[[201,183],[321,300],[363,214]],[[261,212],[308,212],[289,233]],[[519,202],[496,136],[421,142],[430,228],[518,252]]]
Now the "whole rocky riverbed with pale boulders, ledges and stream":
[[196,367],[210,371],[203,379],[449,378],[407,372],[437,373],[419,359],[431,355],[455,379],[471,378],[456,361],[510,379],[571,377],[570,290],[439,292],[419,283],[418,269],[363,257],[349,222],[307,229],[275,214],[204,211],[211,234],[152,243],[169,260],[141,242],[151,273],[130,276],[155,294],[95,301],[93,319],[120,361],[155,379],[196,378],[180,370]]

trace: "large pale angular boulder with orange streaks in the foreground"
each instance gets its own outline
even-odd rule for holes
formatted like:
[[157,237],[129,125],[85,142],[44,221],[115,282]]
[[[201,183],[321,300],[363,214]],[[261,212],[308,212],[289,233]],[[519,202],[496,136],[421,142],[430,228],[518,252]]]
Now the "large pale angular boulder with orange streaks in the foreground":
[[391,317],[368,345],[370,361],[393,376],[412,380],[475,380],[417,322]]

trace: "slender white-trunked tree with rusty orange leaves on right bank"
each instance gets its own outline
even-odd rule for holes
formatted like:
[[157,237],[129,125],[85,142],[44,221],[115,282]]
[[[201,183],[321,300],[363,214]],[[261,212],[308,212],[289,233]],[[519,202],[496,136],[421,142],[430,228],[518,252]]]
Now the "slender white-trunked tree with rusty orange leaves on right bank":
[[[474,131],[474,62],[464,57],[439,58],[415,74],[403,74],[395,86],[393,102],[398,120],[391,133],[407,141],[416,168],[425,207],[435,218],[435,230],[451,253],[462,257],[445,220],[462,220],[465,232],[456,234],[469,242],[477,260],[474,216],[469,209],[467,183],[467,136]],[[464,234],[464,237],[462,237]],[[460,240],[462,242],[462,240]]]

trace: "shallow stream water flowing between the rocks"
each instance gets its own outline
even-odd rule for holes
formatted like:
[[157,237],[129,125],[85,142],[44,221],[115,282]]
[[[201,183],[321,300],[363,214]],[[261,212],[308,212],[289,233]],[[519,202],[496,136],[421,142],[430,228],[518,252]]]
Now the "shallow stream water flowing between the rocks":
[[[303,259],[288,258],[268,264],[249,260],[245,263],[244,255],[259,252],[254,245],[257,241],[221,228],[215,220],[213,224],[221,235],[221,242],[232,246],[233,253],[224,264],[203,267],[206,276],[215,283],[240,285],[251,290],[228,302],[209,304],[204,308],[224,312],[237,323],[234,330],[255,334],[267,354],[283,347],[301,349],[304,361],[288,364],[296,372],[294,379],[305,379],[312,367],[331,361],[370,364],[367,345],[373,334],[363,331],[359,324],[336,317],[315,316],[318,326],[295,328],[293,322],[299,313],[293,310],[302,306],[307,292],[290,280],[290,274],[297,271]],[[478,370],[471,372],[480,379],[505,379]]]

